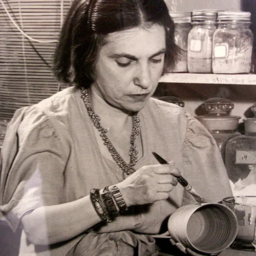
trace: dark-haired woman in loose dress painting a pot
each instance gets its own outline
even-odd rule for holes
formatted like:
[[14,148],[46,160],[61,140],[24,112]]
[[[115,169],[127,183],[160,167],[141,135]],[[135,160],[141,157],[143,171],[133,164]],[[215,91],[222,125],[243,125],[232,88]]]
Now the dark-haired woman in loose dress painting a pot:
[[174,176],[209,202],[231,195],[206,129],[151,98],[177,54],[162,0],[74,1],[54,59],[74,86],[18,110],[3,145],[1,211],[23,228],[20,255],[152,255],[150,234],[193,202]]

